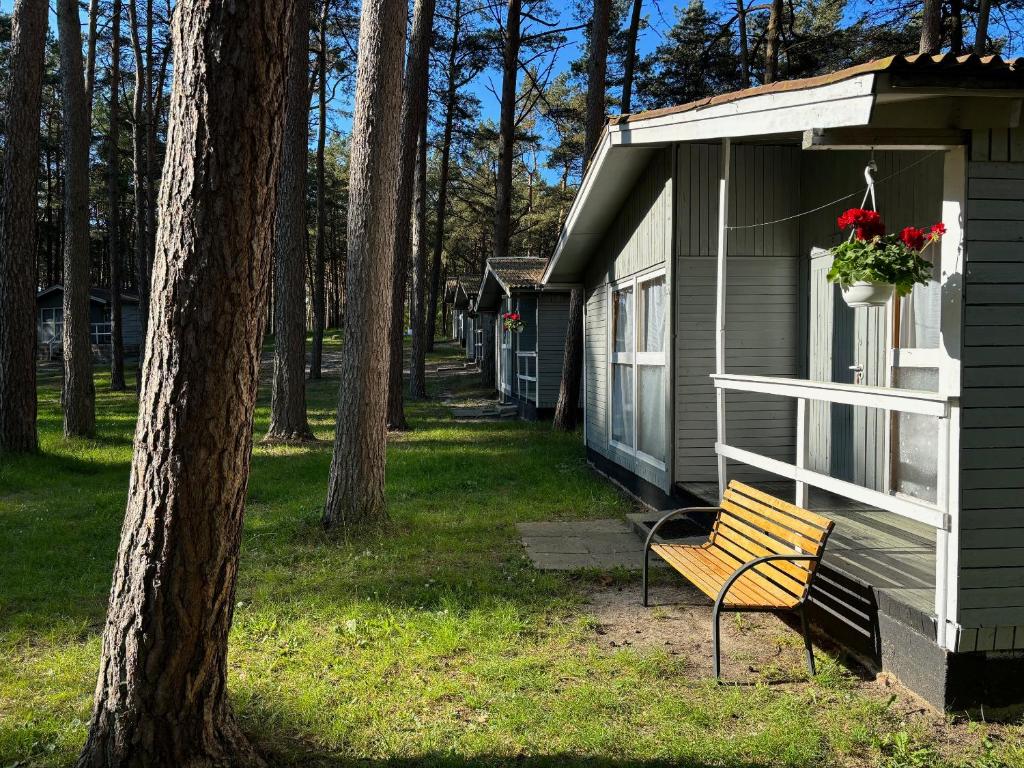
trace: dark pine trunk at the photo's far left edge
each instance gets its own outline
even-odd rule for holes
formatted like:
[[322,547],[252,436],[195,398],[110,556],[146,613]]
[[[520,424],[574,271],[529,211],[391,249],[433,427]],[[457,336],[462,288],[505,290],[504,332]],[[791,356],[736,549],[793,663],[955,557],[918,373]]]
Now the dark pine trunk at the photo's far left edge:
[[44,0],[11,18],[6,152],[0,186],[0,455],[32,453],[36,433],[36,179],[46,45]]

